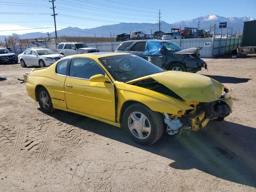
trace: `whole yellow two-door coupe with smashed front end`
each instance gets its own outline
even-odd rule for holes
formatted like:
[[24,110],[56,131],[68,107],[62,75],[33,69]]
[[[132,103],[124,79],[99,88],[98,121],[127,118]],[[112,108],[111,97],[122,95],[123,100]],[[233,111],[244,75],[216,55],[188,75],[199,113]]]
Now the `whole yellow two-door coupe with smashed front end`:
[[90,53],[62,58],[24,74],[28,95],[44,112],[65,110],[124,127],[139,144],[163,134],[199,130],[232,111],[231,90],[216,80],[164,71],[133,54]]

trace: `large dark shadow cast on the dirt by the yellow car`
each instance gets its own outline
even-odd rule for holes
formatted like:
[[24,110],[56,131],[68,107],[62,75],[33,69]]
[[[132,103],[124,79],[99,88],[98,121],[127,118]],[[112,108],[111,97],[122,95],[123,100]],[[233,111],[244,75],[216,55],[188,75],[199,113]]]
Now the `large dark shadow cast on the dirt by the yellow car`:
[[224,180],[256,187],[256,128],[228,121],[210,121],[207,128],[198,132],[181,130],[173,136],[164,133],[153,145],[142,146],[133,142],[123,128],[62,110],[48,115],[66,124],[168,158],[172,161],[168,165],[171,168],[196,168]]

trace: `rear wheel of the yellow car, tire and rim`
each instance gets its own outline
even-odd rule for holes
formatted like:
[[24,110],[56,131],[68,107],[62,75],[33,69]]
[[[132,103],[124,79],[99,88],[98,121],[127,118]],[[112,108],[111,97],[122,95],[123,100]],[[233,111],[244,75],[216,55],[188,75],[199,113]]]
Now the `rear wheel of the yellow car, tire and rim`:
[[37,100],[40,105],[40,108],[43,112],[50,113],[55,109],[52,106],[52,100],[50,94],[44,87],[40,87],[37,94]]

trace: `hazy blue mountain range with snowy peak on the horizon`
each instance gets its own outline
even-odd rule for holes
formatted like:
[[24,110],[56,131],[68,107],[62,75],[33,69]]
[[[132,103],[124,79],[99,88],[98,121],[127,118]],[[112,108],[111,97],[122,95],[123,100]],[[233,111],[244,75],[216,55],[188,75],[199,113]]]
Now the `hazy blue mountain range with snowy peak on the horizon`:
[[[222,17],[215,14],[202,16],[198,18],[194,18],[192,20],[181,20],[174,23],[166,23],[161,21],[161,31],[170,32],[171,28],[184,28],[184,27],[193,27],[198,28],[198,20],[199,20],[199,28],[200,29],[209,29],[210,25],[218,28],[218,24],[220,22],[227,22],[227,26],[233,28],[233,30],[237,29],[237,33],[243,30],[244,22],[255,20],[252,17]],[[58,25],[58,23],[57,23]],[[104,25],[96,28],[90,29],[81,29],[78,27],[67,27],[57,31],[58,36],[98,36],[98,37],[110,37],[113,36],[113,33],[120,34],[120,33],[127,33],[130,34],[132,31],[142,31],[146,34],[151,34],[151,31],[158,31],[159,25],[158,23],[119,23],[113,25]],[[220,30],[219,30],[220,32]],[[95,33],[95,34],[94,34]],[[51,37],[55,36],[55,33],[50,33]],[[27,39],[27,38],[39,38],[39,37],[47,37],[46,33],[41,32],[32,32],[19,35],[20,39]],[[0,41],[4,41],[4,38],[8,36],[0,35]]]

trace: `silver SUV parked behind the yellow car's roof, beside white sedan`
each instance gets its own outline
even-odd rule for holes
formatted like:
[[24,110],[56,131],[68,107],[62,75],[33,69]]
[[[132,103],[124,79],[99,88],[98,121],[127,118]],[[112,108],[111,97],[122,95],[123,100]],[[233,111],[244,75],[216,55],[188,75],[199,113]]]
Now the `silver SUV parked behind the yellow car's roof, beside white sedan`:
[[86,43],[64,42],[58,44],[57,52],[64,56],[69,56],[82,53],[100,52],[100,50],[91,48]]

